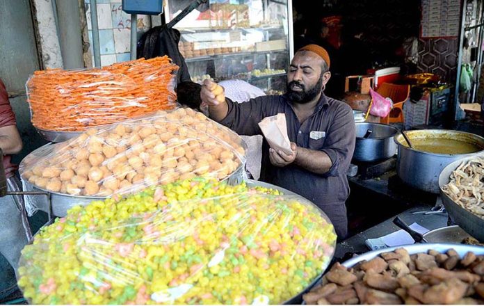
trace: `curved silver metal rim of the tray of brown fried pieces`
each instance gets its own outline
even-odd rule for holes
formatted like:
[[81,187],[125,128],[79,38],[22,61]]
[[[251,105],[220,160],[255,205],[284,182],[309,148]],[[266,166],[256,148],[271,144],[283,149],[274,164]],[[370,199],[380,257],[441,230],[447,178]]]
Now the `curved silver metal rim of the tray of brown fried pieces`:
[[405,248],[405,250],[407,250],[410,253],[410,255],[419,253],[419,252],[428,252],[428,250],[446,252],[451,248],[454,249],[456,252],[458,252],[460,257],[464,257],[465,253],[467,252],[474,252],[474,254],[476,255],[484,255],[484,247],[477,246],[477,245],[456,244],[456,243],[417,243],[412,245],[403,245],[403,246],[397,246],[393,248],[384,248],[380,250],[367,252],[360,256],[353,257],[352,259],[344,261],[342,265],[346,266],[347,268],[350,268],[352,266],[355,266],[355,264],[359,263],[362,260],[373,259],[383,252],[392,252],[397,248]]

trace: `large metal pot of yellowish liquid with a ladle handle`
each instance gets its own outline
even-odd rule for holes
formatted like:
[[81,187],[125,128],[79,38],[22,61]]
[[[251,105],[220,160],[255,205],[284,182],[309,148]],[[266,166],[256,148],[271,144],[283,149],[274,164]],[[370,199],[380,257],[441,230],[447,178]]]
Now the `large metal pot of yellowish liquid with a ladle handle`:
[[[446,138],[460,140],[466,143],[473,143],[484,149],[484,138],[481,136],[466,133],[463,131],[450,131],[446,129],[421,129],[406,132],[410,141],[417,138]],[[422,152],[408,147],[403,135],[394,137],[398,145],[398,156],[396,161],[396,172],[398,177],[406,184],[428,191],[439,193],[439,175],[444,168],[458,159],[467,156],[474,156],[484,152],[483,150],[471,154],[437,154]]]

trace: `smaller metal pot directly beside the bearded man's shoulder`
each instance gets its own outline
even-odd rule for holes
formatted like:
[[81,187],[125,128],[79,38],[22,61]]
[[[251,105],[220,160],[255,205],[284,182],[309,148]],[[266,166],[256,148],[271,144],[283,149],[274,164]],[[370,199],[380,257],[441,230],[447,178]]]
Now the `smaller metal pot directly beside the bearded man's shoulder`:
[[[371,131],[365,138],[368,131]],[[396,143],[392,139],[398,129],[387,124],[356,123],[355,161],[378,161],[389,159],[396,153]]]

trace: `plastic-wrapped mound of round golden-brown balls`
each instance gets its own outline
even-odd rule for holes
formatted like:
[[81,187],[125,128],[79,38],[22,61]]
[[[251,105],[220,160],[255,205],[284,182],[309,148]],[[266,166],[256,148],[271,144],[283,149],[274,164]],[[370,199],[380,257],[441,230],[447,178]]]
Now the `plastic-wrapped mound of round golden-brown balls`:
[[26,156],[19,172],[33,186],[53,193],[127,195],[195,176],[226,179],[242,168],[244,147],[230,129],[190,108],[178,108],[42,147]]

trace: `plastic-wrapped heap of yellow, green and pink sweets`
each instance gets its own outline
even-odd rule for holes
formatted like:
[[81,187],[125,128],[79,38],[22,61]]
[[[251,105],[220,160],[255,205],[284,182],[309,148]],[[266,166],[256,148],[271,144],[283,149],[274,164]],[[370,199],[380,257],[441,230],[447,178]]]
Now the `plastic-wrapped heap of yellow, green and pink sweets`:
[[22,251],[33,304],[281,304],[330,263],[314,204],[193,178],[72,208]]

